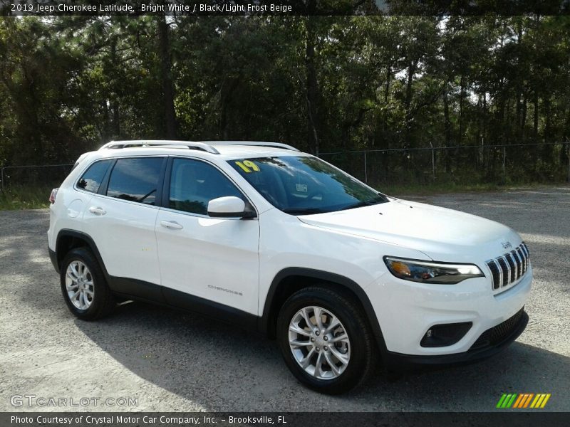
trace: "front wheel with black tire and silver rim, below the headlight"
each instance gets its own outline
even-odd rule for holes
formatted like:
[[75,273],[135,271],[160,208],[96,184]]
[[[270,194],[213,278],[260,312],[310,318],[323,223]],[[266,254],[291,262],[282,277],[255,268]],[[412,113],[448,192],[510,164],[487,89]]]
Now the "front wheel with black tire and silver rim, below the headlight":
[[309,388],[341,394],[361,383],[375,361],[373,335],[352,297],[328,288],[294,293],[277,318],[287,367]]

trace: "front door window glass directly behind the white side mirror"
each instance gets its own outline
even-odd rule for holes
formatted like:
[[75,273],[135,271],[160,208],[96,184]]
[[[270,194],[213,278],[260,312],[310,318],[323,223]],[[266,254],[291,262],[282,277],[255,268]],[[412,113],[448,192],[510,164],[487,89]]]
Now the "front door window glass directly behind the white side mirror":
[[208,202],[224,196],[244,199],[232,181],[211,164],[194,159],[173,159],[168,207],[207,215]]

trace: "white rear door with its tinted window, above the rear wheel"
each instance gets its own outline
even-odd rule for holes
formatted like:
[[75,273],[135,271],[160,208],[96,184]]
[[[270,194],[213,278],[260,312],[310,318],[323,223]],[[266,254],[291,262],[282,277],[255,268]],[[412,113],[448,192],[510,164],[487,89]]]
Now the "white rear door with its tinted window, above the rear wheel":
[[[139,295],[145,283],[160,285],[155,222],[166,161],[167,157],[117,159],[85,211],[84,231],[95,241],[115,279],[110,285],[119,292]],[[154,291],[146,296],[156,299],[160,288]]]

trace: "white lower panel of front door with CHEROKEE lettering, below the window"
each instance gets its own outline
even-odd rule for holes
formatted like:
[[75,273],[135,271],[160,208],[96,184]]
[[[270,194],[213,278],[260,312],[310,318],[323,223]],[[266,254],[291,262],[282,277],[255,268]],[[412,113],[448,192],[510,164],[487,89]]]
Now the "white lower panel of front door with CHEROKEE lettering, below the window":
[[[160,225],[162,221],[175,221],[183,228],[166,228]],[[162,286],[257,315],[257,220],[209,218],[161,209],[156,237]]]

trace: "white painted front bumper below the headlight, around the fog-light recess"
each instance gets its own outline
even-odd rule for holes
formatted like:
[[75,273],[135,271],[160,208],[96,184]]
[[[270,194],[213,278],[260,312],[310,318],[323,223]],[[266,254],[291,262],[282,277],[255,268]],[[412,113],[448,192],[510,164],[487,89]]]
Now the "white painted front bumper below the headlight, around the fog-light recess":
[[[464,280],[457,285],[435,285],[400,280],[389,273],[365,290],[378,317],[384,352],[445,360],[448,356],[450,359],[475,357],[475,348],[481,350],[477,340],[482,334],[509,320],[524,307],[531,283],[532,268],[529,267],[517,283],[503,292],[494,292],[487,277]],[[462,322],[470,322],[472,326],[454,344],[444,347],[420,344],[432,327]],[[470,350],[473,355],[465,355]],[[492,349],[487,350],[492,353]],[[482,352],[477,351],[479,353]]]

